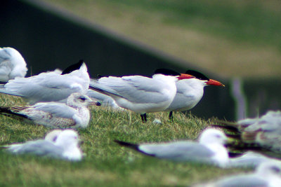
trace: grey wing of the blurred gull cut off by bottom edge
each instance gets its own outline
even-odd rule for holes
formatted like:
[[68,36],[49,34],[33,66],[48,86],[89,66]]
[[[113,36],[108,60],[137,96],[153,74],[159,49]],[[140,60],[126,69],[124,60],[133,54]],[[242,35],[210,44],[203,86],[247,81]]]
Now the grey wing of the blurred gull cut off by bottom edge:
[[268,182],[256,177],[254,175],[240,175],[240,176],[230,176],[226,179],[221,179],[220,181],[216,181],[217,187],[258,187],[258,186],[268,186]]

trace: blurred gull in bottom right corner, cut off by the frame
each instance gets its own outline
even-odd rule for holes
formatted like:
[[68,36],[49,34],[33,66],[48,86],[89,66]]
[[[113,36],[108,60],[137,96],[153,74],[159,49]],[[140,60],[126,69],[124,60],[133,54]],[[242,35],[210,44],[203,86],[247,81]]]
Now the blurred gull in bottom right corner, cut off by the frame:
[[276,162],[263,162],[251,174],[227,176],[218,181],[197,184],[194,187],[280,187],[281,165]]

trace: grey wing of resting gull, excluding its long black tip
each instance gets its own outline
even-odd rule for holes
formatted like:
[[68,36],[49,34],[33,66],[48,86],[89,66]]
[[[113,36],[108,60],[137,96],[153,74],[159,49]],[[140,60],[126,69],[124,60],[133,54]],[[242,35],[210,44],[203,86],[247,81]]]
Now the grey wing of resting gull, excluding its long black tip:
[[191,141],[176,141],[168,144],[143,144],[139,149],[158,158],[177,161],[211,162],[214,155],[209,148]]

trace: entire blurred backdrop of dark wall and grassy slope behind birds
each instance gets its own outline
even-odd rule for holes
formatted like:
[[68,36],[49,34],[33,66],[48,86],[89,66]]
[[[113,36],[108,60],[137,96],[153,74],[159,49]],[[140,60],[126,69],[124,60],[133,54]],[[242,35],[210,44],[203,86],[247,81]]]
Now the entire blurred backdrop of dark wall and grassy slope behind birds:
[[2,0],[0,47],[17,49],[28,75],[83,59],[89,74],[201,71],[191,113],[237,120],[281,106],[279,0]]

